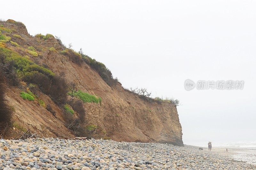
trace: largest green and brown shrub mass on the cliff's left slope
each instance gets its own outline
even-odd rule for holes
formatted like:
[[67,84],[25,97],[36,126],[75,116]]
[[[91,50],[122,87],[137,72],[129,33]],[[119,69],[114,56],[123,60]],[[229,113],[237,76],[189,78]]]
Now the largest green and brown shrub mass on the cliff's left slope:
[[[29,50],[30,51],[30,50]],[[55,75],[51,70],[22,57],[0,42],[0,60],[5,67],[5,75],[11,85],[19,85],[20,81],[38,85],[40,90],[49,95],[58,104],[67,102],[68,85],[63,75]]]

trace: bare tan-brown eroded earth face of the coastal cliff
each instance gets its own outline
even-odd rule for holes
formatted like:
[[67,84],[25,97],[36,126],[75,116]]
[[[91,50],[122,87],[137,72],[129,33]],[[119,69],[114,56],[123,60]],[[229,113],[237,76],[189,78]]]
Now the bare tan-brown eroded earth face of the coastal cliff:
[[[62,50],[54,38],[42,40],[30,36],[26,28],[12,23],[4,27],[13,28],[13,33],[22,39],[15,39],[20,46],[42,49],[38,57],[30,59],[39,65],[48,65],[56,74],[65,72],[69,82],[75,82],[79,89],[102,98],[102,104],[84,103],[86,119],[106,130],[106,136],[117,141],[160,142],[183,146],[182,129],[177,108],[167,102],[149,102],[137,94],[125,90],[120,83],[108,86],[100,75],[85,62],[77,65],[68,56],[52,52],[47,48]],[[50,103],[56,112],[53,116],[44,107],[20,97],[19,87],[9,86],[7,100],[15,108],[15,119],[24,126],[43,134],[44,137],[74,137],[65,127],[61,109],[47,95],[40,92],[40,98]]]

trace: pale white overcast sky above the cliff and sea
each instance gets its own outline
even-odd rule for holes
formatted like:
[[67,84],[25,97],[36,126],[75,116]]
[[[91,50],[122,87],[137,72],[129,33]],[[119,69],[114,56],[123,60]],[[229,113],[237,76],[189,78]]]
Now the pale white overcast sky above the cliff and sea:
[[[173,97],[185,144],[256,140],[256,1],[4,1],[0,18],[51,33],[126,88]],[[186,91],[184,81],[244,80]]]

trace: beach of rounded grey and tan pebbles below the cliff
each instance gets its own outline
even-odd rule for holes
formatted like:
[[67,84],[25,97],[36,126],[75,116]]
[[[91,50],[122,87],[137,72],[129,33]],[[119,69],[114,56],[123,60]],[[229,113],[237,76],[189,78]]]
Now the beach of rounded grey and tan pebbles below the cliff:
[[196,146],[90,139],[0,140],[0,169],[256,169]]

